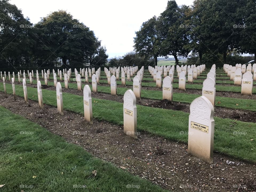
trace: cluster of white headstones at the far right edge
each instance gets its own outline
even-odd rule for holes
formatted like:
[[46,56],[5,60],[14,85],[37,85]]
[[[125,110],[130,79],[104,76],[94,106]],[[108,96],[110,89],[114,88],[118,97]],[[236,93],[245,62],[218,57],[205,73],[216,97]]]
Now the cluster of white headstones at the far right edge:
[[[255,69],[256,64],[254,63],[253,65],[253,69]],[[256,70],[254,70],[254,74],[251,73],[251,64],[249,64],[247,68],[245,64],[237,64],[236,66],[224,64],[223,71],[227,73],[231,81],[234,81],[234,85],[241,85],[242,95],[252,95],[253,80],[256,80]]]

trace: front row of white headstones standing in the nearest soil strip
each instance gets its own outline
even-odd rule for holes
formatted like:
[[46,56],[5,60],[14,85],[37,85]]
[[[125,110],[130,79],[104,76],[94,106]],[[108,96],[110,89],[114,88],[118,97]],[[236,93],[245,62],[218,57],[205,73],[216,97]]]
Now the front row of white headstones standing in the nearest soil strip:
[[[93,74],[92,78],[95,78]],[[112,75],[112,77],[115,77]],[[138,80],[140,77],[136,75]],[[165,77],[169,83],[172,83],[169,76]],[[165,81],[164,79],[164,81]],[[95,78],[96,81],[96,78]],[[5,78],[3,77],[3,84],[6,94]],[[13,94],[15,95],[14,78],[12,78]],[[23,78],[24,99],[28,103],[26,80]],[[42,86],[41,82],[37,82],[38,103],[39,107],[43,108]],[[62,87],[58,82],[56,85],[57,109],[58,113],[63,115],[63,98]],[[137,107],[136,96],[133,91],[127,90],[123,97],[123,123],[124,133],[137,138]],[[91,90],[88,85],[83,88],[83,105],[84,118],[93,124],[92,116],[92,101]],[[189,133],[188,134],[188,152],[198,158],[202,158],[208,163],[213,163],[213,139],[214,139],[214,107],[205,96],[196,98],[190,105],[189,115]]]

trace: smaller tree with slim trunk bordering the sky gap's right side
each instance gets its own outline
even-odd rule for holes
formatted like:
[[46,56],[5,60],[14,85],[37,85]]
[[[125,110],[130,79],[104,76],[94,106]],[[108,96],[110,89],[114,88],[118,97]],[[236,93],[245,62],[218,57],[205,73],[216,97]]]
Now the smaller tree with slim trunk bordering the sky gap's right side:
[[157,65],[157,57],[161,55],[162,37],[159,31],[159,22],[156,16],[142,23],[141,29],[135,32],[134,49],[139,55],[154,58]]

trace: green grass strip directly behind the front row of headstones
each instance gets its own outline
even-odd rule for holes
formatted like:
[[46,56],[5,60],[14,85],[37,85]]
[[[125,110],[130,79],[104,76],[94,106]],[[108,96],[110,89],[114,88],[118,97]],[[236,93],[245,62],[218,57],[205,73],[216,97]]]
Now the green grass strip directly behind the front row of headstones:
[[[7,84],[7,93],[12,93],[11,85]],[[1,91],[2,87],[0,88]],[[38,101],[37,89],[27,87],[28,98]],[[22,86],[16,85],[16,94],[23,97]],[[42,90],[43,102],[56,105],[55,91]],[[103,99],[92,99],[93,117],[123,125],[123,103]],[[95,101],[95,102],[94,102]],[[83,114],[83,97],[69,93],[63,94],[65,110]],[[57,111],[57,109],[56,109]],[[137,105],[138,131],[147,131],[164,138],[187,142],[189,113]],[[239,159],[256,162],[256,124],[215,117],[214,151],[231,155]],[[234,131],[246,132],[244,135],[233,134]],[[254,139],[254,141],[250,141]]]

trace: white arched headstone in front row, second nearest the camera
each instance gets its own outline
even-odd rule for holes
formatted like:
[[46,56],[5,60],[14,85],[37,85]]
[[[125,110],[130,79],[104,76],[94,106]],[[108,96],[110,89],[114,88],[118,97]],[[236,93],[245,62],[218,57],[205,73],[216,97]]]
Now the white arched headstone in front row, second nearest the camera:
[[130,137],[138,138],[136,97],[130,89],[123,95],[123,132]]

